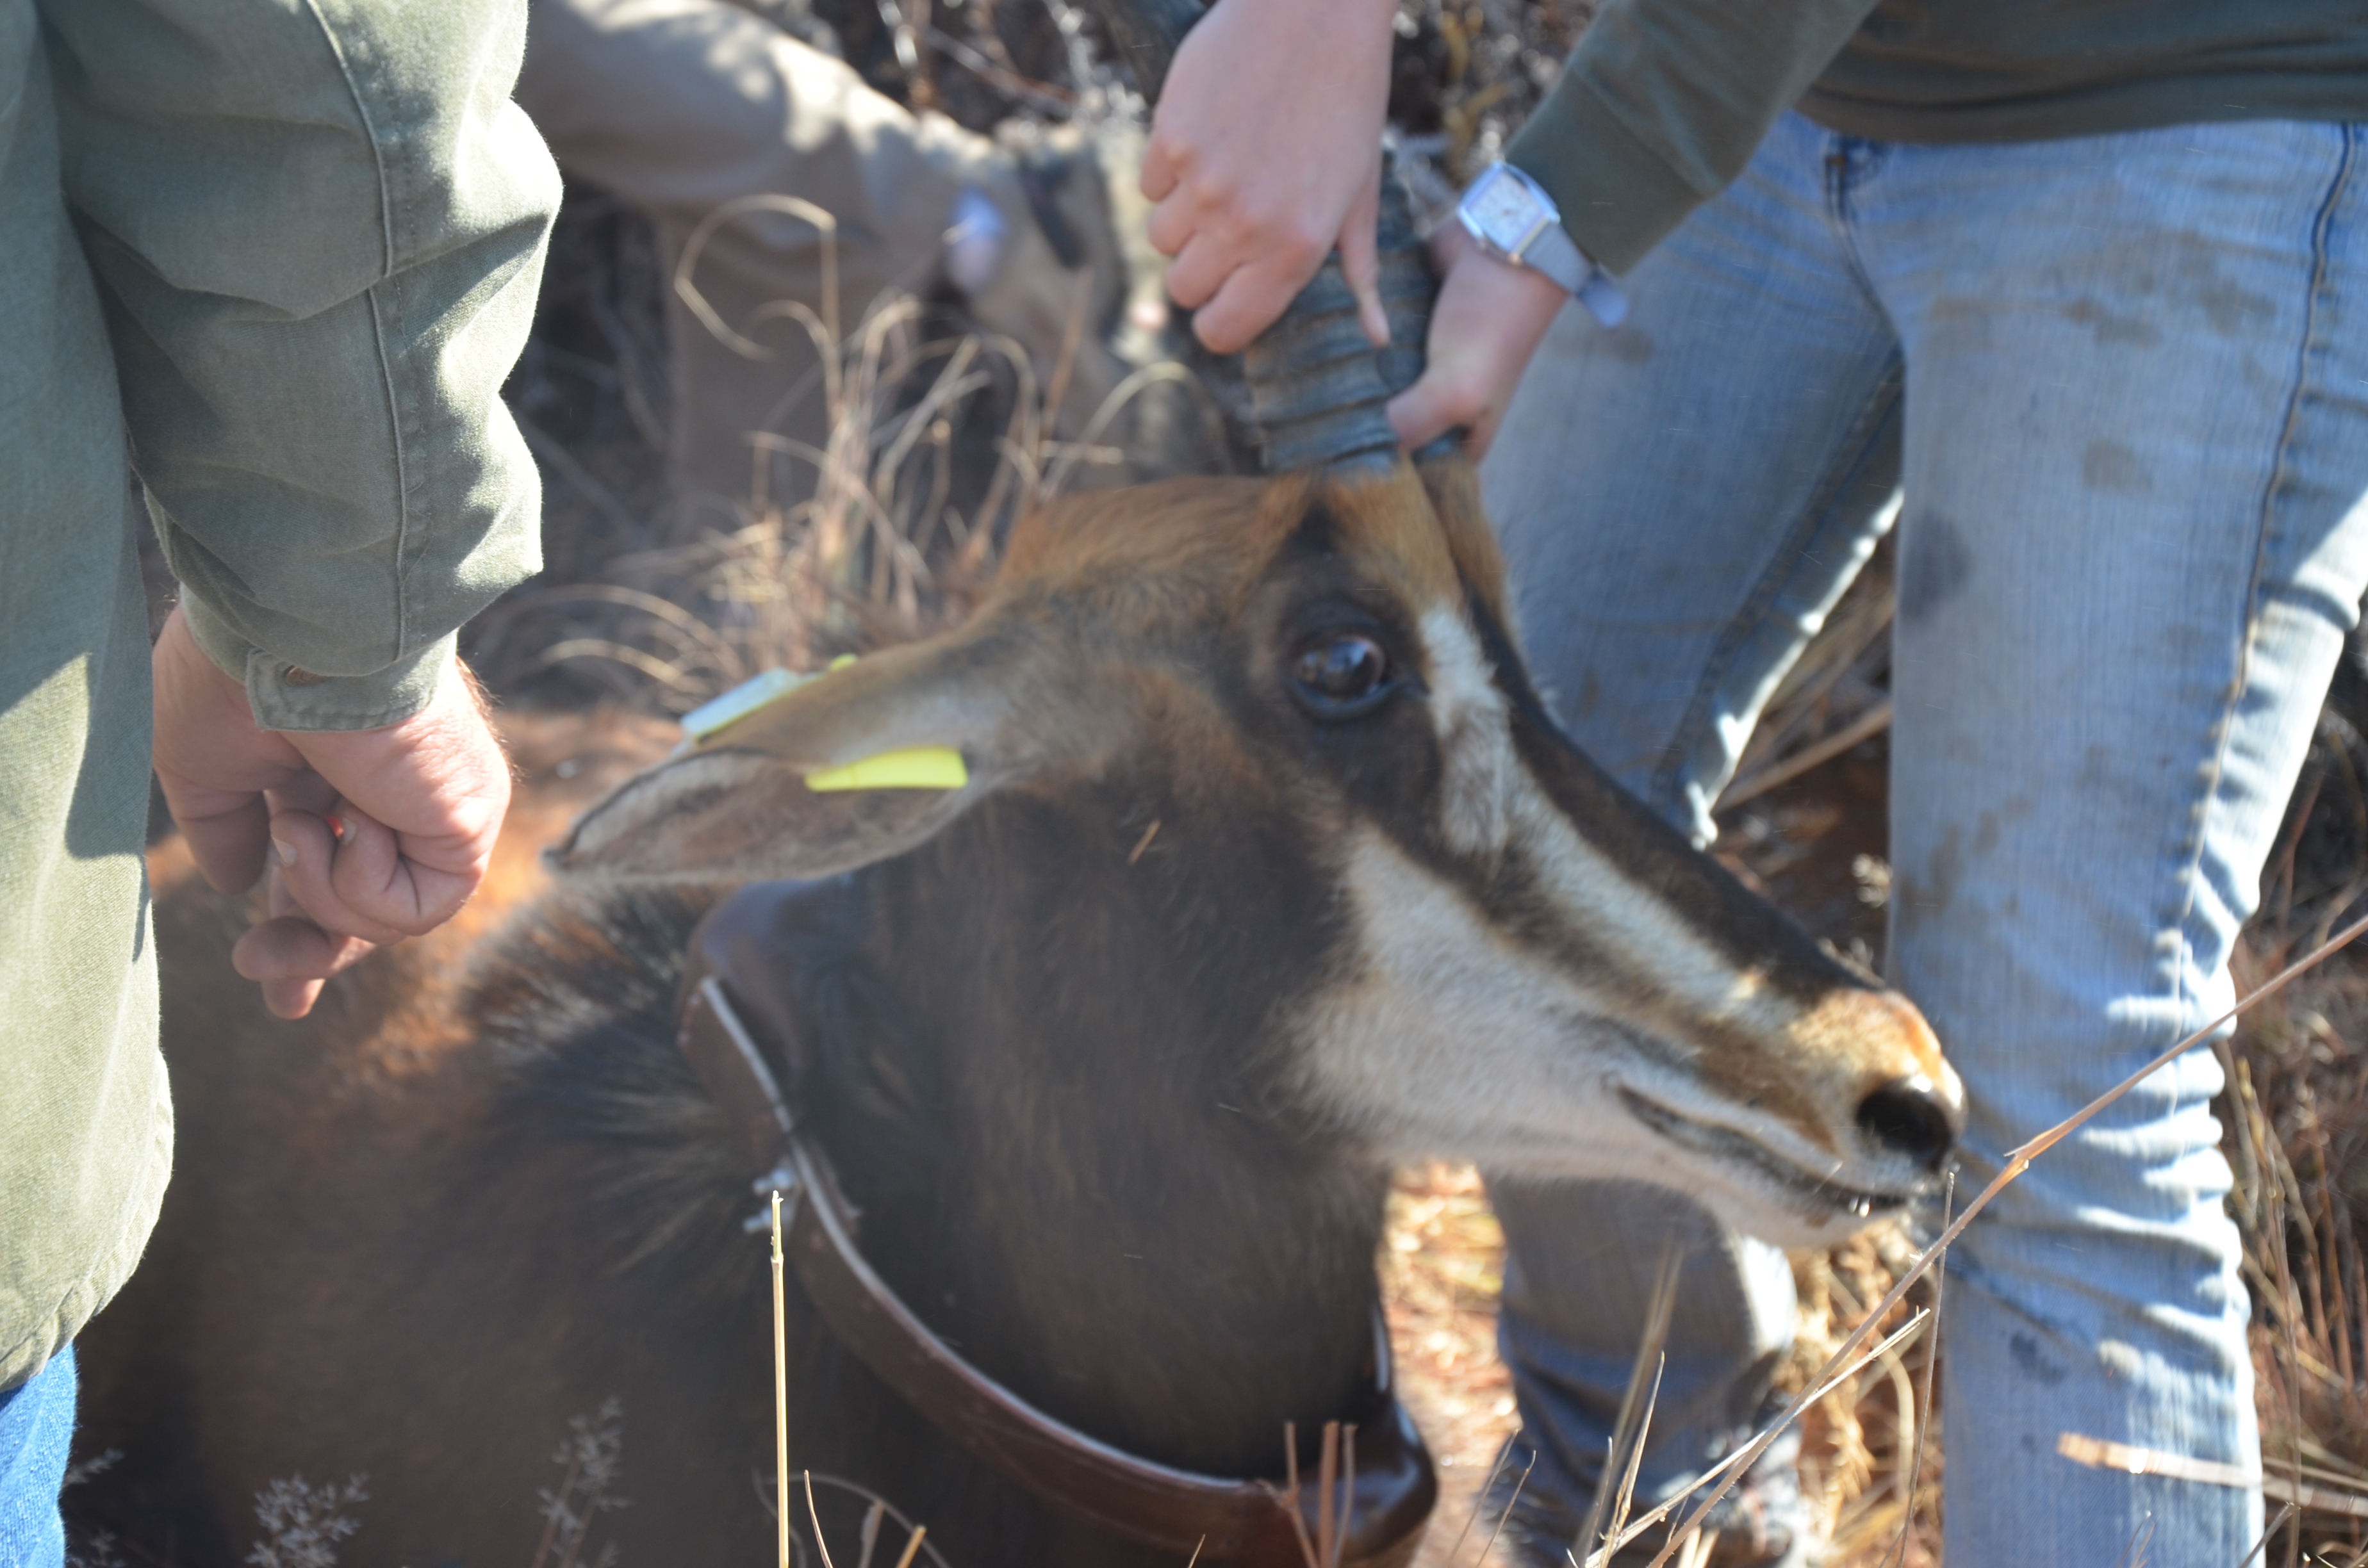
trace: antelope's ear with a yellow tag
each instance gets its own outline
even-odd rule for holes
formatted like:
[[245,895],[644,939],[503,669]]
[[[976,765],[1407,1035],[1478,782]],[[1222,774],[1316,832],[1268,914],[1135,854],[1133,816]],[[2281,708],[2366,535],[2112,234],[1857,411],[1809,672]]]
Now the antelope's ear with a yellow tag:
[[[739,883],[900,855],[1042,760],[1032,737],[1056,727],[1014,722],[1032,685],[1014,663],[957,635],[817,675],[628,779],[549,850],[552,869]],[[919,770],[893,765],[912,751]],[[857,767],[874,758],[890,765]],[[890,786],[869,786],[881,775]]]

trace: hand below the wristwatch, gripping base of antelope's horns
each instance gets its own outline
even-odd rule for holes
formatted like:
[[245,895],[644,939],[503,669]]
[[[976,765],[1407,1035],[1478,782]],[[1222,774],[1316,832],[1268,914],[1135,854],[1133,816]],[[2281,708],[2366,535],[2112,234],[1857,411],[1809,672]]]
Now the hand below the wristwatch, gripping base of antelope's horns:
[[1430,253],[1444,282],[1430,308],[1428,358],[1423,377],[1390,398],[1390,429],[1411,450],[1461,424],[1463,452],[1480,462],[1570,296],[1532,268],[1497,261],[1454,220],[1430,237]]

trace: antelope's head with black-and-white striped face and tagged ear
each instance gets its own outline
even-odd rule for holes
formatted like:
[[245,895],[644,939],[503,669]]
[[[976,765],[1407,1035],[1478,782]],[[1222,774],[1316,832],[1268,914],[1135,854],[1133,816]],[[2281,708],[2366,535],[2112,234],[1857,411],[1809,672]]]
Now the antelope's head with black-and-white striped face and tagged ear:
[[[966,779],[807,786],[916,746],[959,751]],[[1272,1000],[1281,1082],[1376,1163],[1648,1180],[1804,1244],[1902,1208],[1949,1153],[1961,1090],[1916,1009],[1556,730],[1454,457],[1058,502],[1021,523],[966,625],[758,708],[625,784],[552,857],[587,876],[824,876],[997,793],[1106,810],[1113,777],[1151,777],[1208,831],[1291,836],[1274,876],[1321,886],[1196,888],[1177,919],[1224,900],[1241,919],[1279,898],[1326,912]]]

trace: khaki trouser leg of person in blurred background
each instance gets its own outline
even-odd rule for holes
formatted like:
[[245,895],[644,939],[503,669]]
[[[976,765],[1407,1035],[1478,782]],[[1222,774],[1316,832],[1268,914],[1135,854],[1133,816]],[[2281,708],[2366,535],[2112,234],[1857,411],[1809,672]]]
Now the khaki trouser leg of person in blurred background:
[[[699,223],[727,201],[789,194],[838,220],[841,332],[881,289],[919,289],[938,263],[964,185],[997,182],[992,144],[942,116],[912,116],[845,64],[722,0],[538,0],[519,104],[559,166],[639,208],[673,270]],[[765,317],[815,310],[824,246],[812,225],[748,213],[703,244],[694,282],[732,329],[770,351],[727,348],[668,291],[675,429],[687,495],[746,500],[760,457],[748,431],[824,445],[829,410],[805,329]],[[767,493],[800,500],[815,474],[777,462]]]

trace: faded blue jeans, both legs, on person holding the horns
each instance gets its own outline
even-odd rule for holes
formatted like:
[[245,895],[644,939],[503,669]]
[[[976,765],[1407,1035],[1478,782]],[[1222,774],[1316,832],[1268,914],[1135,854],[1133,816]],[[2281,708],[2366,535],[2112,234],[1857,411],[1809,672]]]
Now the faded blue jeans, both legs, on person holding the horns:
[[[1958,1191],[2233,1002],[2228,952],[2368,585],[2368,130],[2006,147],[1783,121],[1565,310],[1485,464],[1532,666],[1707,841],[1759,706],[1904,497],[1890,973],[1965,1078]],[[1949,1568],[2228,1568],[2259,1490],[2074,1466],[2065,1431],[2257,1466],[2209,1099],[2157,1073],[1954,1248]],[[1660,1258],[1698,1241],[1667,1487],[1750,1416],[1790,1281],[1627,1189],[1499,1184],[1504,1348],[1584,1511]]]

